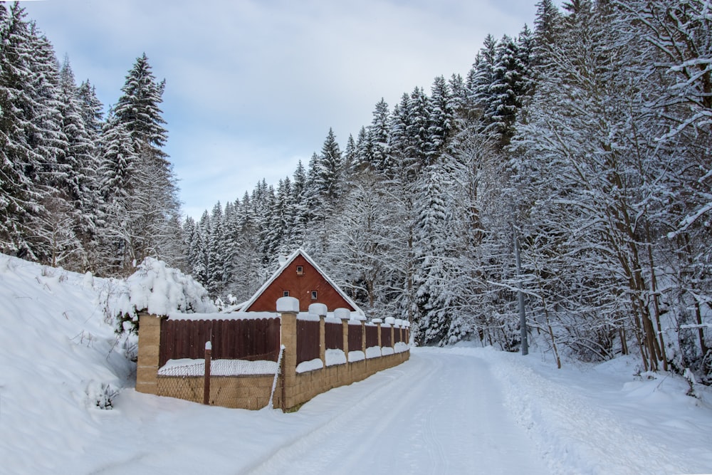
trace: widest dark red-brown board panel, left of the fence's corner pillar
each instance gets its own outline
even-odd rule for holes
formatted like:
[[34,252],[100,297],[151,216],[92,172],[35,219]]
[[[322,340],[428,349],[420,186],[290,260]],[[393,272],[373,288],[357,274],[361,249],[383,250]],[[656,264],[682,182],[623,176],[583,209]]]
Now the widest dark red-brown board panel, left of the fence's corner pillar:
[[245,320],[162,320],[159,365],[179,358],[200,359],[205,343],[214,360],[271,360],[279,355],[279,318]]

